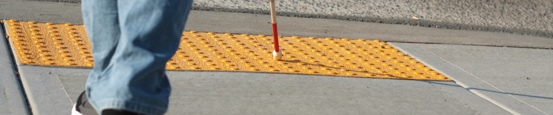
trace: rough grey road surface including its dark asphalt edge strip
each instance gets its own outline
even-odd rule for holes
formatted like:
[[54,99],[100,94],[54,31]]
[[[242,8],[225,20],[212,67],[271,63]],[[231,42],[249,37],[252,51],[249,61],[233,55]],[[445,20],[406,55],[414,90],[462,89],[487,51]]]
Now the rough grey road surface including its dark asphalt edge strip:
[[[80,3],[80,0],[37,0]],[[276,0],[277,15],[553,38],[551,0]],[[268,0],[195,0],[199,11],[269,14]]]

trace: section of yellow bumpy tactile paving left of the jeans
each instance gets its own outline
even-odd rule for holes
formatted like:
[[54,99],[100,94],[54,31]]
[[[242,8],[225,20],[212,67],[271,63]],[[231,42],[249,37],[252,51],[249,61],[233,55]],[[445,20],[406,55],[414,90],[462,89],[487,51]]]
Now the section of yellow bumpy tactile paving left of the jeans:
[[20,63],[29,65],[93,65],[90,41],[82,25],[4,20]]

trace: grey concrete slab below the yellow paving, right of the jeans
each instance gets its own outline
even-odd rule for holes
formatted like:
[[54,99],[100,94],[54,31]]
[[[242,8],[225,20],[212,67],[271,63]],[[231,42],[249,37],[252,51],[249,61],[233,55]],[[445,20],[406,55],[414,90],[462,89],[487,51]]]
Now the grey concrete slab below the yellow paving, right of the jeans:
[[482,114],[426,81],[240,72],[168,75],[179,87],[169,114]]

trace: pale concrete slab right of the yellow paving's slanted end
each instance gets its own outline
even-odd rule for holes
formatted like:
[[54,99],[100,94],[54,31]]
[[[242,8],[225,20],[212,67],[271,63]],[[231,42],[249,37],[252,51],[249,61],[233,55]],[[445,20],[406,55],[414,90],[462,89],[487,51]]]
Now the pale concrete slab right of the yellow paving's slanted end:
[[510,113],[553,114],[553,50],[389,44]]

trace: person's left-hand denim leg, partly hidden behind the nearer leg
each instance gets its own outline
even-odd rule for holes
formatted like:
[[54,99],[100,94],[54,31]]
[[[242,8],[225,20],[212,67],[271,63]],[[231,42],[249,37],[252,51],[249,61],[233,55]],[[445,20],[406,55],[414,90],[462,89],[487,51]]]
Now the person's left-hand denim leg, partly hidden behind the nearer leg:
[[[86,80],[86,96],[106,70],[119,41],[117,0],[82,0],[82,17],[92,44],[94,67]],[[92,85],[92,86],[91,86]]]

